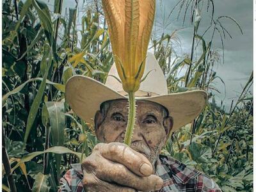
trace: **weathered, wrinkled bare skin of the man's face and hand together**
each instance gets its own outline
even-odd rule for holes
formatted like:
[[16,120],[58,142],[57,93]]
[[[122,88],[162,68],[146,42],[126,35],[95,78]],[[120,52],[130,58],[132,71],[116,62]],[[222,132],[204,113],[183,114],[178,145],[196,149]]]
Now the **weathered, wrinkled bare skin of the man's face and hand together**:
[[170,116],[154,102],[138,101],[131,147],[124,143],[127,101],[113,100],[106,117],[95,115],[95,133],[101,142],[84,159],[86,191],[156,191],[163,180],[154,175],[155,163],[166,136],[172,129]]

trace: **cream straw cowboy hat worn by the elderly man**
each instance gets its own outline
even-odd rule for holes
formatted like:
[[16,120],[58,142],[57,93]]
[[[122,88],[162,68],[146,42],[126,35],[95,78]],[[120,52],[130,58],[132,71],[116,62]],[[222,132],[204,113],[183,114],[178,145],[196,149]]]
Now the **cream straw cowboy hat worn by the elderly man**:
[[[189,124],[204,109],[207,93],[203,90],[193,90],[181,93],[168,94],[164,74],[157,63],[154,54],[148,52],[145,72],[152,70],[140,89],[135,93],[136,100],[148,100],[161,104],[168,109],[173,117],[172,132]],[[115,64],[111,67],[106,84],[86,76],[73,76],[66,84],[65,97],[70,108],[83,120],[93,123],[93,118],[100,104],[107,100],[127,99],[127,93],[115,77],[118,77]]]

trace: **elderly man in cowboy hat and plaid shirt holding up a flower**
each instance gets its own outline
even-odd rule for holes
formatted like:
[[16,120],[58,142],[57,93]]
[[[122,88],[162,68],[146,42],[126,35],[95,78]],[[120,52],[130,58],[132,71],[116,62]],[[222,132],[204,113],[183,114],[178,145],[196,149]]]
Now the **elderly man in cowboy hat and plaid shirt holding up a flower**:
[[[202,90],[169,94],[156,58],[148,52],[145,73],[136,92],[137,115],[131,147],[124,140],[127,97],[115,65],[106,84],[74,76],[66,99],[74,112],[94,121],[99,140],[92,154],[60,180],[60,191],[221,191],[204,173],[160,153],[170,133],[191,122],[205,106]],[[94,117],[94,118],[93,118]]]

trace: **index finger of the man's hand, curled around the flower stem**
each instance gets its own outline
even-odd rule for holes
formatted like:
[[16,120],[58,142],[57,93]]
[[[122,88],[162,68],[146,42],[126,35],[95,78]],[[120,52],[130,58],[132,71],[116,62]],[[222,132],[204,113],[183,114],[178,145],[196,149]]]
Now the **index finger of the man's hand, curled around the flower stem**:
[[100,144],[98,144],[97,149],[106,159],[124,164],[131,172],[140,176],[149,176],[153,173],[152,164],[147,157],[128,147],[128,145],[118,142]]

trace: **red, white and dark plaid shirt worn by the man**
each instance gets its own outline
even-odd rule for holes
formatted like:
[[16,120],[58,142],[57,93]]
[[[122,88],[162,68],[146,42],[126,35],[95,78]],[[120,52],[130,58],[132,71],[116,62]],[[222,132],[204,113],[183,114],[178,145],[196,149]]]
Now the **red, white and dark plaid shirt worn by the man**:
[[[60,179],[58,192],[85,192],[81,164],[76,163],[71,166],[72,169],[68,170]],[[155,174],[164,181],[163,188],[159,191],[221,192],[219,186],[207,175],[194,168],[189,168],[172,157],[160,155]]]

